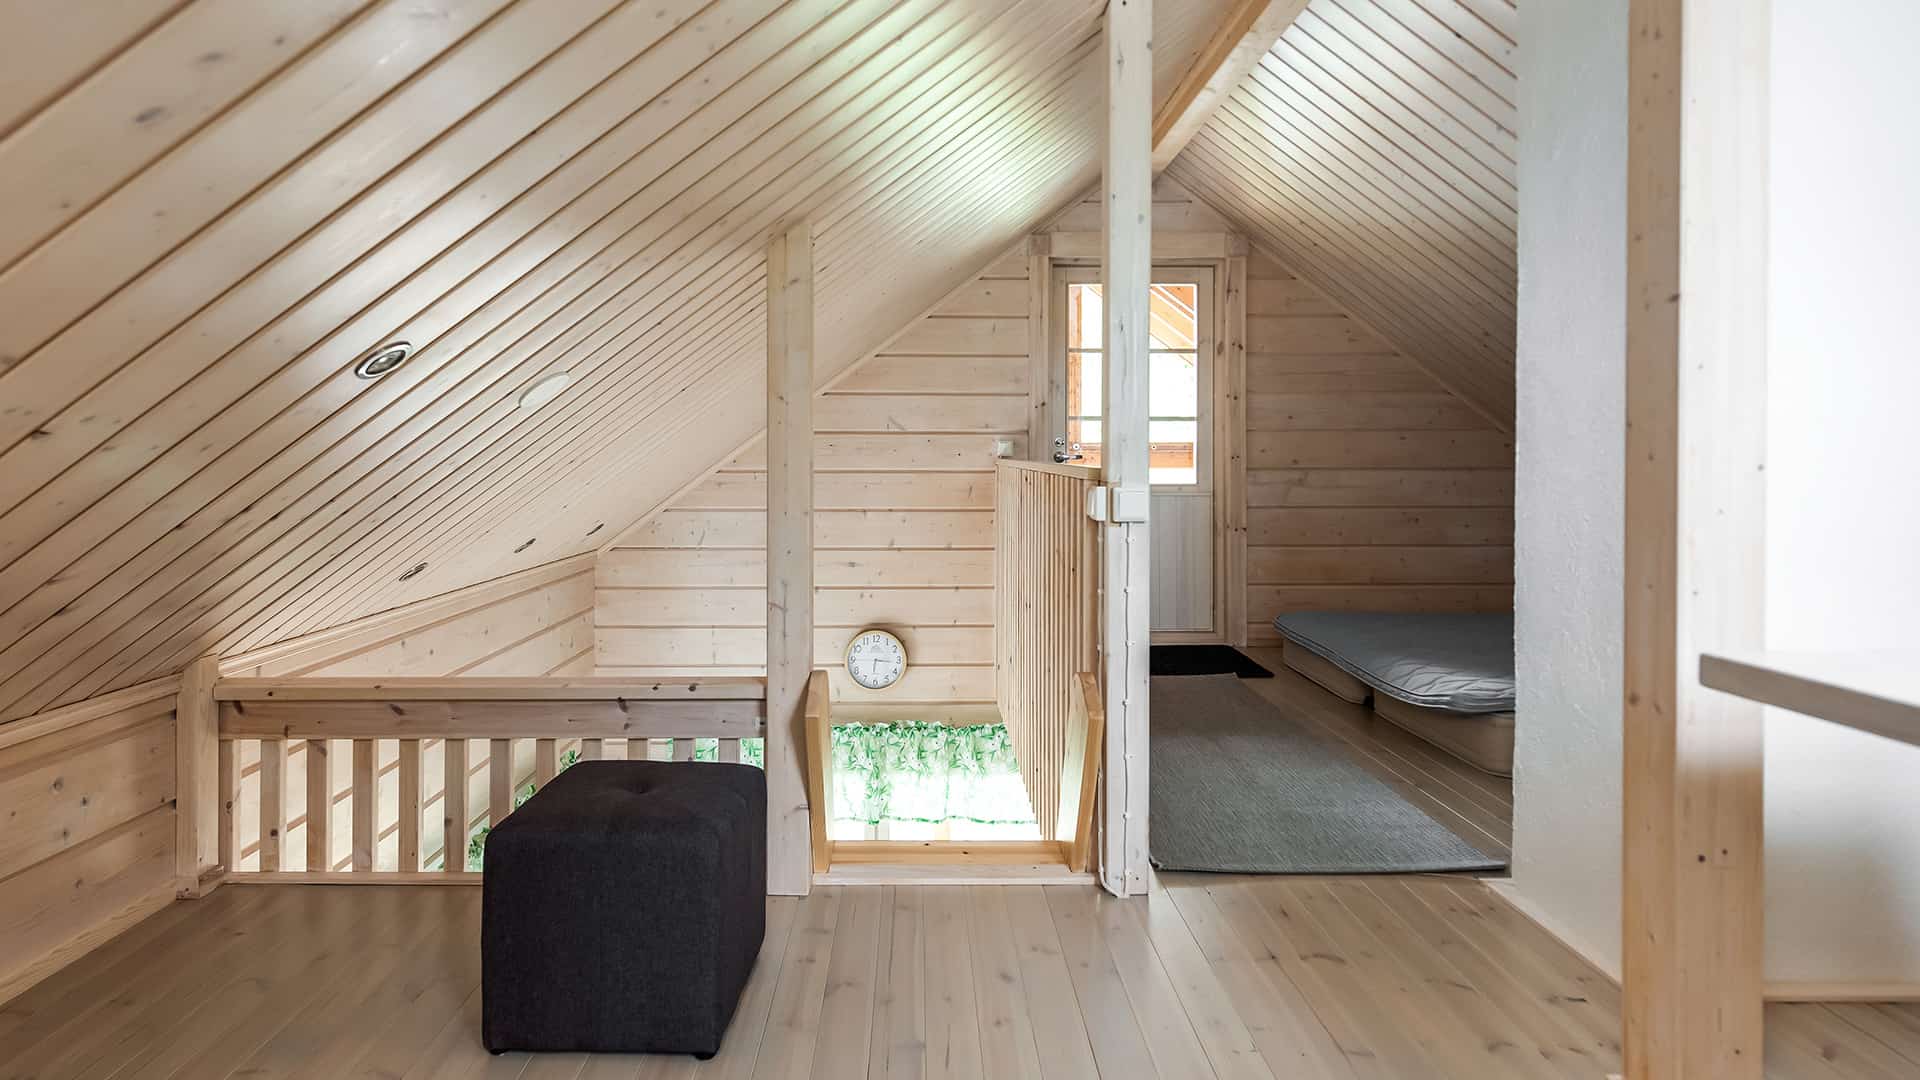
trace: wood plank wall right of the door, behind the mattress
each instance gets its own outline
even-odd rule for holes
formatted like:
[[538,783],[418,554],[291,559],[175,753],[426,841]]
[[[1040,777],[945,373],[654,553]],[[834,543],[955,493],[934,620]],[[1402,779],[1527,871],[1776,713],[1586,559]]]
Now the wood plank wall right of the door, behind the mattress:
[[1283,611],[1511,611],[1513,436],[1271,258],[1248,269],[1248,642]]

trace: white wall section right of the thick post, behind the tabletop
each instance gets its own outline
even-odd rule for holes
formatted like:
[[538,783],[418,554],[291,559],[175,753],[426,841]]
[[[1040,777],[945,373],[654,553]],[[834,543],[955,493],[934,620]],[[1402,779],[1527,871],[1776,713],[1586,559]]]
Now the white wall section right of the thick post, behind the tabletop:
[[[1912,0],[1774,0],[1766,636],[1920,650]],[[1920,982],[1920,748],[1776,713],[1772,978]]]

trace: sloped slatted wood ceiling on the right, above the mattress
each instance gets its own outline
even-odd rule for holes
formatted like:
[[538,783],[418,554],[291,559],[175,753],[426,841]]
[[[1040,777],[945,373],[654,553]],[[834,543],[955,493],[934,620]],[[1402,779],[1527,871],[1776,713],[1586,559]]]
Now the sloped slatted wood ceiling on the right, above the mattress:
[[1505,430],[1513,50],[1509,0],[1311,0],[1167,167]]

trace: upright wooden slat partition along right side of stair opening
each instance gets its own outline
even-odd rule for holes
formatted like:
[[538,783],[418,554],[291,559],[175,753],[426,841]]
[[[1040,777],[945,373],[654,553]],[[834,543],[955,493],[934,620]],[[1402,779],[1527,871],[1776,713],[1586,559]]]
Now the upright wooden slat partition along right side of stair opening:
[[1000,461],[995,471],[995,700],[1041,836],[1058,838],[1075,676],[1098,661],[1098,469]]

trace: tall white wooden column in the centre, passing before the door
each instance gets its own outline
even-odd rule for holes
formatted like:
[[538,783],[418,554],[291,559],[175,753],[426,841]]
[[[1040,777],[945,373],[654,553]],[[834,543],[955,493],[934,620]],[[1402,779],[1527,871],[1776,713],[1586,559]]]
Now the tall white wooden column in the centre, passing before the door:
[[1106,309],[1100,642],[1106,684],[1106,807],[1100,880],[1146,892],[1146,306],[1154,273],[1154,4],[1106,6],[1106,160],[1100,267]]

